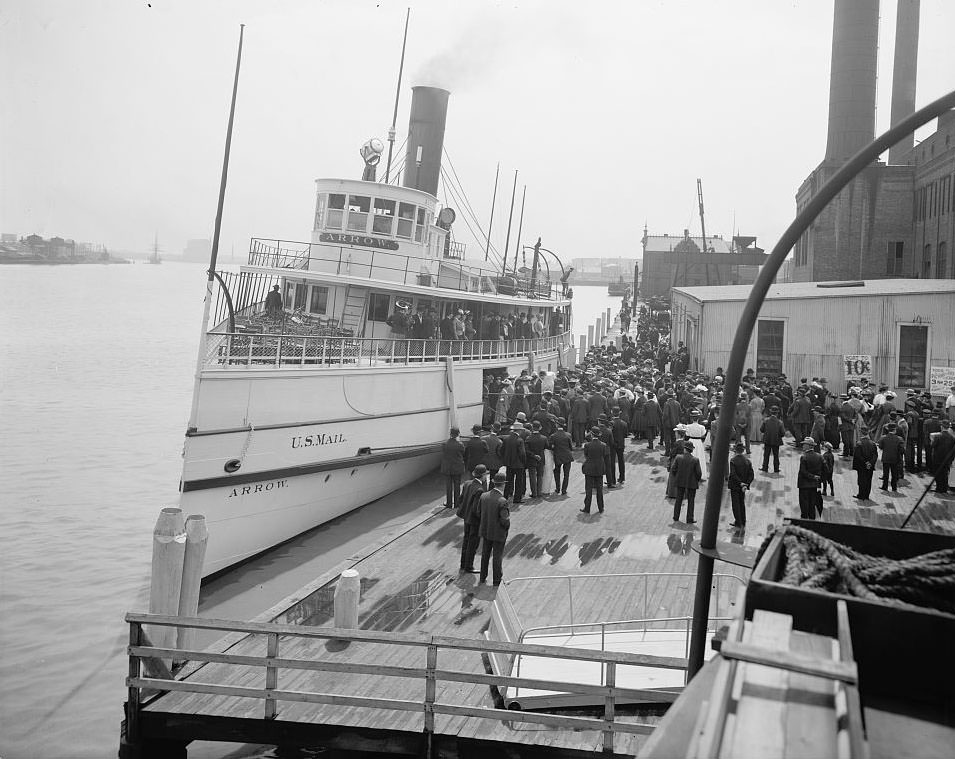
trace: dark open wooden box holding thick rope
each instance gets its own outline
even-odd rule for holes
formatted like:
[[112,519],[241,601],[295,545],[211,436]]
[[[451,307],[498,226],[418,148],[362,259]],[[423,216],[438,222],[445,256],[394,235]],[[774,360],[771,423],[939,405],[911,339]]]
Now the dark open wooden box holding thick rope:
[[[949,535],[801,519],[787,522],[873,556],[902,559],[955,548],[955,537]],[[746,589],[747,619],[752,619],[754,609],[777,611],[792,615],[794,629],[836,637],[836,601],[845,599],[863,695],[917,700],[931,704],[933,712],[941,708],[948,718],[952,716],[955,615],[784,585],[778,582],[784,564],[777,535],[753,568]]]

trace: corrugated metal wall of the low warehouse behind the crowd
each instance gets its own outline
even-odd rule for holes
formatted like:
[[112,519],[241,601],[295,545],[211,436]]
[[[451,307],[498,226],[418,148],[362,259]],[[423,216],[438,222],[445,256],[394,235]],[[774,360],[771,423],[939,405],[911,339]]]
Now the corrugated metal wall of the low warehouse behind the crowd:
[[[712,374],[729,362],[742,301],[709,302],[702,306],[699,345],[690,346],[700,370]],[[692,316],[700,304],[673,295],[674,340],[692,332]],[[843,356],[872,356],[874,383],[896,388],[900,324],[929,327],[928,366],[955,366],[955,295],[913,294],[868,297],[781,299],[763,304],[760,319],[785,322],[783,372],[790,381],[826,377],[830,387],[845,384]],[[689,329],[688,329],[689,327]],[[750,342],[746,366],[756,367],[756,336]],[[927,381],[927,380],[926,380]]]

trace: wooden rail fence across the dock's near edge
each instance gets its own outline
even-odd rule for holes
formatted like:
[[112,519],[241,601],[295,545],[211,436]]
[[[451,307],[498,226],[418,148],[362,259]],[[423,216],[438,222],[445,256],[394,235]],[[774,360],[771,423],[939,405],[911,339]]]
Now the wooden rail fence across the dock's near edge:
[[[141,735],[141,712],[143,691],[159,691],[158,701],[150,700],[151,712],[162,712],[162,698],[168,693],[200,693],[213,697],[240,697],[257,699],[264,702],[262,716],[274,720],[279,715],[282,702],[304,702],[313,704],[334,704],[345,707],[365,709],[387,709],[391,711],[414,712],[424,715],[424,733],[430,755],[431,737],[435,732],[435,715],[445,714],[478,719],[506,721],[508,723],[547,725],[564,730],[596,730],[603,734],[605,751],[613,750],[614,736],[617,733],[648,735],[654,726],[621,722],[615,718],[614,710],[618,699],[652,698],[656,693],[645,689],[620,688],[615,685],[617,666],[650,666],[663,669],[684,669],[684,659],[648,656],[643,654],[595,652],[584,649],[536,646],[520,643],[473,640],[470,638],[452,638],[438,635],[410,635],[403,633],[378,632],[373,630],[346,630],[329,627],[310,627],[302,625],[282,625],[260,622],[232,622],[197,617],[175,617],[157,614],[126,615],[129,623],[129,670],[126,678],[127,709],[126,737],[137,745],[145,738]],[[143,625],[160,627],[186,627],[220,632],[241,632],[249,636],[264,636],[265,652],[261,655],[228,654],[212,651],[180,650],[149,645],[145,638]],[[375,649],[367,651],[367,660],[353,661],[353,657],[335,660],[328,654],[326,647],[316,647],[316,653],[303,659],[284,658],[280,655],[283,639],[335,640],[367,644],[386,644],[425,649],[424,666],[383,666],[377,661]],[[353,649],[354,650],[354,649]],[[444,652],[472,652],[477,654],[503,653],[508,655],[539,656],[554,659],[577,661],[599,661],[606,668],[604,685],[583,683],[561,683],[549,680],[509,677],[487,674],[480,661],[470,671],[439,669],[438,656]],[[265,670],[265,682],[261,686],[225,685],[194,679],[202,667],[193,670],[187,679],[164,679],[162,677],[143,676],[146,672],[156,671],[157,660],[177,659],[190,662],[216,662],[234,667],[261,667]],[[161,671],[161,668],[159,668]],[[283,670],[307,670],[312,672],[337,672],[355,675],[370,675],[380,683],[381,678],[405,678],[424,685],[424,696],[419,699],[352,696],[342,693],[324,693],[316,690],[283,690],[279,686],[279,675]],[[320,682],[316,680],[314,682]],[[442,703],[436,698],[438,683],[471,683],[477,685],[506,685],[508,687],[536,688],[540,690],[563,690],[580,695],[597,695],[604,699],[605,708],[601,717],[565,716],[557,714],[538,714],[512,709],[498,709],[480,704]],[[411,685],[413,685],[412,683]],[[403,693],[413,693],[415,688],[402,688]],[[379,684],[379,689],[383,686]],[[452,690],[452,692],[454,692]],[[201,714],[193,716],[198,723],[208,715],[215,714],[215,703],[210,699],[201,709]],[[227,716],[218,715],[217,718]],[[414,724],[414,723],[412,723]],[[409,726],[410,727],[410,726]]]

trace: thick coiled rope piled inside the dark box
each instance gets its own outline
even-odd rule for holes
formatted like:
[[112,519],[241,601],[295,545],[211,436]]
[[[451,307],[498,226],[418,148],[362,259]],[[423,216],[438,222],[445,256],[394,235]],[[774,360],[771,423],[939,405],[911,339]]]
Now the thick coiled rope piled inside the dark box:
[[784,525],[766,537],[757,564],[775,534],[782,535],[786,562],[779,581],[786,585],[955,614],[955,549],[888,559]]

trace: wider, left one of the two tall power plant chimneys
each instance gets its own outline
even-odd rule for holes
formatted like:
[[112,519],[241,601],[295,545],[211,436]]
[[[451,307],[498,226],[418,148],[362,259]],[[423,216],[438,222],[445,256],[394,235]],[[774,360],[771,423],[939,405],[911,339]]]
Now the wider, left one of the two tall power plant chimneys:
[[875,138],[879,0],[836,0],[826,160],[844,161]]

